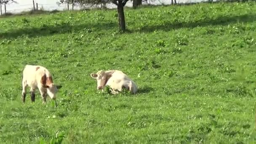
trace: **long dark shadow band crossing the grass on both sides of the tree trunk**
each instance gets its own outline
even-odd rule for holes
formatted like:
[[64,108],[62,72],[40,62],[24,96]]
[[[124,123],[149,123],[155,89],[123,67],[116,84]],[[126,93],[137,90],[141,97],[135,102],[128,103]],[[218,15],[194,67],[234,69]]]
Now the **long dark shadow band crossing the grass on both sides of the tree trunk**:
[[[172,29],[179,28],[194,28],[197,26],[209,26],[209,25],[228,25],[237,22],[253,22],[256,21],[255,14],[244,14],[240,16],[220,16],[216,19],[205,19],[200,21],[188,21],[188,22],[171,22],[167,21],[164,24],[157,24],[151,26],[144,26],[139,30],[128,30],[128,33],[132,32],[154,32],[155,30],[170,31]],[[43,25],[42,27],[30,27],[22,29],[13,29],[7,32],[0,32],[0,38],[16,38],[22,35],[27,37],[46,36],[53,34],[65,34],[70,32],[79,32],[82,29],[95,29],[95,31],[118,29],[118,23],[88,23],[80,25],[61,24],[61,25]]]

